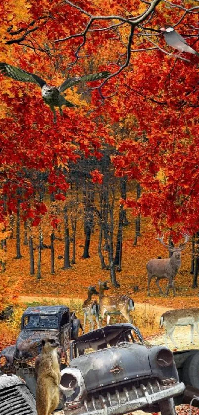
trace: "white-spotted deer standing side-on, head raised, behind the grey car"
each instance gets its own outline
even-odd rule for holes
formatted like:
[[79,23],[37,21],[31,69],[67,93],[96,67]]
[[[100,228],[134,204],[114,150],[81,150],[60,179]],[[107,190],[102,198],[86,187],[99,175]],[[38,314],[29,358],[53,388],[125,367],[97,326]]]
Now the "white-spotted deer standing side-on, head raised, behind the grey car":
[[130,317],[130,311],[134,310],[134,301],[127,295],[104,295],[104,290],[109,290],[107,282],[99,281],[99,310],[102,317],[104,318],[105,313],[107,314],[107,325],[109,325],[111,314],[122,314],[125,319],[132,323]]

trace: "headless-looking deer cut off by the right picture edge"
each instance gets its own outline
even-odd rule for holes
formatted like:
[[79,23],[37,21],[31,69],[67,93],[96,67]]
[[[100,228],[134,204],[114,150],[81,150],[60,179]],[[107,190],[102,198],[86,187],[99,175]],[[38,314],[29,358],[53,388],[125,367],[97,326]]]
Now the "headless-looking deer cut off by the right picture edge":
[[160,319],[160,327],[165,328],[165,344],[170,337],[175,347],[178,347],[173,340],[173,332],[176,326],[191,326],[191,343],[193,343],[194,328],[199,334],[199,308],[169,310],[162,314]]

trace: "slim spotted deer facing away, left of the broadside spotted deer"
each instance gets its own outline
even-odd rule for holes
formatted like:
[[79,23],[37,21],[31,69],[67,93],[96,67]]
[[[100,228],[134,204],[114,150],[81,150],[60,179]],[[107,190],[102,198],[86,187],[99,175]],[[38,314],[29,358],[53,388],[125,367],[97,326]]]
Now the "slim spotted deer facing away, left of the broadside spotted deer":
[[84,322],[83,330],[85,330],[86,318],[90,322],[90,330],[94,329],[93,316],[95,316],[97,322],[97,328],[99,328],[99,319],[98,319],[98,303],[96,300],[92,300],[93,295],[98,295],[99,292],[96,290],[95,285],[90,285],[88,287],[88,298],[84,301],[82,309],[84,312]]

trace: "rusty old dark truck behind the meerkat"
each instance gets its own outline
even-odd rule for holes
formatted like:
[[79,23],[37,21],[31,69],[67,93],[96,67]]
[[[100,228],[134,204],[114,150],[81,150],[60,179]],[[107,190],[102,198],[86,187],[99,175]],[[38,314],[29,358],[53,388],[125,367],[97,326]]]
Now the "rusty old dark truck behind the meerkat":
[[67,306],[28,307],[21,318],[21,332],[16,344],[7,346],[0,353],[0,370],[7,374],[16,373],[27,380],[41,351],[41,339],[48,335],[58,339],[59,354],[66,362],[70,340],[77,339],[80,326],[80,320]]

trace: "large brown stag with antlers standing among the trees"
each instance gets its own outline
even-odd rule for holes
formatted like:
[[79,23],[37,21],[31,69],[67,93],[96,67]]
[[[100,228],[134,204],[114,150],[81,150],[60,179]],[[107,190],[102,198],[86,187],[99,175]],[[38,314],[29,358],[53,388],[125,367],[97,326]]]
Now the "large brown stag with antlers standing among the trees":
[[166,290],[166,295],[168,295],[169,288],[173,288],[173,295],[175,296],[175,287],[174,287],[174,278],[178,272],[178,269],[181,266],[181,251],[185,249],[185,246],[190,238],[190,235],[184,234],[185,238],[184,243],[181,243],[178,247],[174,247],[173,245],[166,245],[163,242],[164,235],[161,238],[158,236],[158,239],[163,246],[169,249],[169,251],[173,252],[172,256],[167,259],[158,259],[153,258],[150,259],[147,263],[147,272],[148,272],[148,296],[150,296],[149,286],[151,279],[154,277],[156,278],[156,285],[159,288],[159,293],[163,295],[163,291],[159,286],[160,279],[168,279],[168,287]]

